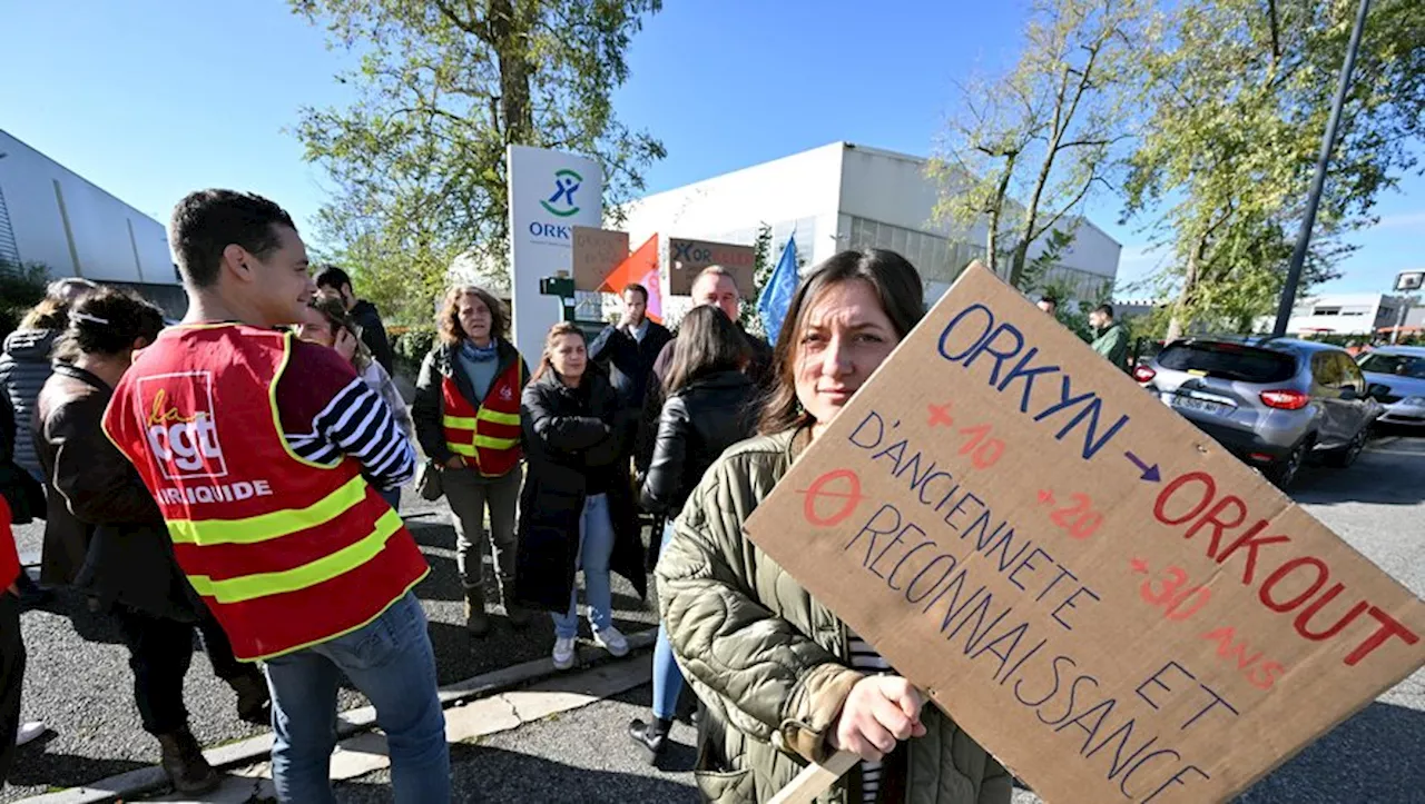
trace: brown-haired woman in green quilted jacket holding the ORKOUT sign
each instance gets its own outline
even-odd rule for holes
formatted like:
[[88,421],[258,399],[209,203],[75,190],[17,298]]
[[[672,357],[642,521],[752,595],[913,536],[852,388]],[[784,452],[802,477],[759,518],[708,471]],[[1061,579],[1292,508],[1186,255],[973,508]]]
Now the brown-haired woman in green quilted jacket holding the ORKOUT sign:
[[707,706],[695,776],[710,801],[767,801],[846,750],[845,801],[999,804],[1010,777],[742,535],[742,524],[923,313],[902,256],[842,252],[802,280],[774,354],[761,435],[731,447],[658,562],[663,623]]

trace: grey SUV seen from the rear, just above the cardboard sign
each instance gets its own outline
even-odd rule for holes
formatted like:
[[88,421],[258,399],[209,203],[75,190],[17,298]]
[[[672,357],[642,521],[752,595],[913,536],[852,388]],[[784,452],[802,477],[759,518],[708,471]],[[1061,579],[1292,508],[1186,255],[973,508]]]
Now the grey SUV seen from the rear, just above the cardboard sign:
[[1133,376],[1278,488],[1312,454],[1355,462],[1382,411],[1351,356],[1325,343],[1176,340]]

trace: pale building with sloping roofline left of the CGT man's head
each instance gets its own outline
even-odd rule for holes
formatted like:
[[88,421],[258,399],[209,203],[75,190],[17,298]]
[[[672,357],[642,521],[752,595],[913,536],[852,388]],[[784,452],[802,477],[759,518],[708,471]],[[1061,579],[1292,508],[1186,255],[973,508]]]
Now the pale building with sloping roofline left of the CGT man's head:
[[181,316],[164,225],[0,131],[0,262],[123,285]]

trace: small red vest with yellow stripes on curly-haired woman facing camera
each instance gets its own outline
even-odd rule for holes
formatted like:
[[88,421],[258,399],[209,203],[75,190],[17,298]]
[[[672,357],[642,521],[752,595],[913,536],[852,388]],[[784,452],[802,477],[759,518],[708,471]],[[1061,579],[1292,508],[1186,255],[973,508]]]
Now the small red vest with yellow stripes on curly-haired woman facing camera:
[[440,380],[446,448],[473,458],[484,477],[509,474],[520,462],[520,391],[524,383],[516,357],[500,371],[476,408],[450,377]]

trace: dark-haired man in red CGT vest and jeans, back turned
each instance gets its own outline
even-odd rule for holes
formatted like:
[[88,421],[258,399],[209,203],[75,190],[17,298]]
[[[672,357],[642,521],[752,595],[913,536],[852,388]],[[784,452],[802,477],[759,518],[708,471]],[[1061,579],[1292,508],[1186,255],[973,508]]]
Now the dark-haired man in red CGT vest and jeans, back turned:
[[396,803],[449,801],[435,653],[412,592],[429,566],[370,485],[408,481],[415,453],[348,360],[276,329],[315,292],[281,206],[194,192],[170,239],[188,316],[134,360],[104,431],[158,501],[237,657],[264,662],[278,798],[335,801],[345,675],[376,707]]

